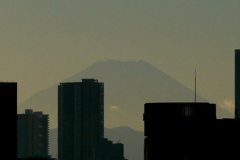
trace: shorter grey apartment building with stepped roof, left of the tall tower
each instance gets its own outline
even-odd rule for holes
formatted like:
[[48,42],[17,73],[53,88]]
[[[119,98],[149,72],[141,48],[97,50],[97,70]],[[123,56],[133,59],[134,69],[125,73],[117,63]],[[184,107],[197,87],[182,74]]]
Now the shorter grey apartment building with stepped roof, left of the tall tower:
[[31,109],[17,115],[18,158],[48,157],[48,120],[48,115]]

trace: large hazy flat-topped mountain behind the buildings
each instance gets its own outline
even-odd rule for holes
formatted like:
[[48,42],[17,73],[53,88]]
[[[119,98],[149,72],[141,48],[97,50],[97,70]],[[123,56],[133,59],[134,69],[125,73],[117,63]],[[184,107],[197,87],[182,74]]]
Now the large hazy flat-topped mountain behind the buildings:
[[[83,78],[104,82],[104,125],[108,128],[129,126],[143,131],[144,104],[147,102],[192,102],[194,92],[145,61],[101,61],[62,82],[80,82]],[[60,82],[59,82],[60,83]],[[50,128],[57,128],[57,86],[31,96],[18,106],[49,114]],[[197,95],[199,102],[208,102]],[[218,118],[231,118],[217,107]]]

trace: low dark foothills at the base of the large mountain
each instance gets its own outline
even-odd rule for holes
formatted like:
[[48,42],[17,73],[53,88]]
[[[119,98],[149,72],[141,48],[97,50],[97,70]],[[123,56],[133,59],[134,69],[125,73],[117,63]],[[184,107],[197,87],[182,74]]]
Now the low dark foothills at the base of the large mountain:
[[[49,131],[49,154],[57,156],[57,129]],[[124,144],[124,156],[129,160],[143,160],[144,134],[129,127],[104,128],[104,137],[113,143]]]

